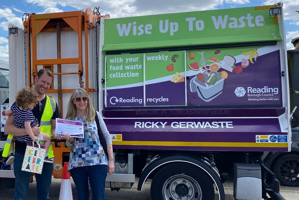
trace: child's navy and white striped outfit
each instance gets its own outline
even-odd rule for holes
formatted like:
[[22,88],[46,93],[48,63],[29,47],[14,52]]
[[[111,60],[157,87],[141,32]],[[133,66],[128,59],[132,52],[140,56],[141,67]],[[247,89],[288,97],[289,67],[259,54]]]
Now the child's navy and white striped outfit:
[[[39,126],[39,123],[37,119],[34,117],[33,113],[29,109],[20,110],[19,106],[13,105],[11,106],[11,112],[14,113],[14,124],[18,128],[25,128],[25,122],[31,122],[30,126],[35,127]],[[26,142],[27,144],[29,142],[32,142],[32,139],[29,135],[24,136],[14,136],[15,140],[18,140],[20,142]]]

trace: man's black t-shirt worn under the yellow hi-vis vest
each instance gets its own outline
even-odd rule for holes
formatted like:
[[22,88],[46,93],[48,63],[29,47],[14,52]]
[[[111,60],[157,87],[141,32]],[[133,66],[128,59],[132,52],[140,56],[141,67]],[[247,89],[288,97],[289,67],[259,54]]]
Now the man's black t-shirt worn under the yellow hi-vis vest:
[[[47,101],[47,97],[45,97],[43,100],[41,100],[41,104],[42,104],[41,110],[40,110],[39,103],[31,110],[33,115],[36,117],[36,119],[38,120],[39,123],[41,120],[41,116],[44,112],[44,108],[46,106],[46,101]],[[15,102],[14,102],[14,104],[15,104]],[[53,116],[52,116],[52,119],[56,119],[56,118],[59,118],[59,110],[58,110],[57,103],[56,103],[55,112],[53,113]],[[24,142],[15,141],[15,152],[20,153],[20,154],[25,154],[26,146],[27,146],[27,144]]]

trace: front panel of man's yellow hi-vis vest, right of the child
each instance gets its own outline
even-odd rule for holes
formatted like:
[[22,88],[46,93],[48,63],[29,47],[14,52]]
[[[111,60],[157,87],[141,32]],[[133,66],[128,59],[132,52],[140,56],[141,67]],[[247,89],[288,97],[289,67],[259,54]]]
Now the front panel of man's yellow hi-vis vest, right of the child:
[[[55,112],[56,108],[56,102],[53,98],[50,98],[46,95],[46,105],[44,108],[43,115],[40,119],[40,132],[44,132],[45,134],[49,135],[51,137],[51,122],[52,122],[52,116]],[[54,153],[52,149],[52,145],[50,145],[48,150],[48,157],[53,158]]]

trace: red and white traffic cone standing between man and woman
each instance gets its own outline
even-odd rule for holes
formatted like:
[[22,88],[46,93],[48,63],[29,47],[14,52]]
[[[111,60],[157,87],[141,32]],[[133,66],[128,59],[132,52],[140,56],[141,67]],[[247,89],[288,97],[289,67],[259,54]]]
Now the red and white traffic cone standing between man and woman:
[[67,171],[69,163],[65,162],[62,171],[62,180],[60,186],[59,200],[73,200],[70,174]]

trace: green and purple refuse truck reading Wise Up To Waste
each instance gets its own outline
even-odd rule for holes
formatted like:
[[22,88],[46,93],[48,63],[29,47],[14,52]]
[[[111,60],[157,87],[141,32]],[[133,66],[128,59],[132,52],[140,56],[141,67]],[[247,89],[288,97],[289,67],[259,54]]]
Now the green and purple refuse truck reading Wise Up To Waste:
[[[282,3],[125,18],[96,7],[24,14],[23,25],[8,28],[10,99],[42,68],[62,118],[86,89],[112,138],[106,187],[152,179],[154,200],[223,200],[228,173],[235,199],[284,199],[261,159],[291,144]],[[69,148],[52,146],[60,178]]]

